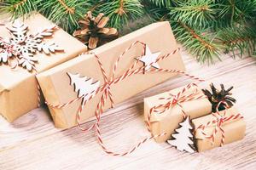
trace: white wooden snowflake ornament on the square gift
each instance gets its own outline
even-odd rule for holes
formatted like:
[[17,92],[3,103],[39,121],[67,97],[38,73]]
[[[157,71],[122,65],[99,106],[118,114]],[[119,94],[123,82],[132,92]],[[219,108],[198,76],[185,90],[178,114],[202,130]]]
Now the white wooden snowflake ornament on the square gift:
[[10,59],[15,58],[18,65],[27,71],[35,70],[38,59],[34,57],[37,52],[44,54],[62,51],[55,42],[43,42],[44,37],[51,37],[57,29],[56,26],[43,29],[36,34],[28,34],[28,26],[15,20],[14,24],[7,28],[10,31],[10,38],[0,37],[0,64],[9,63]]

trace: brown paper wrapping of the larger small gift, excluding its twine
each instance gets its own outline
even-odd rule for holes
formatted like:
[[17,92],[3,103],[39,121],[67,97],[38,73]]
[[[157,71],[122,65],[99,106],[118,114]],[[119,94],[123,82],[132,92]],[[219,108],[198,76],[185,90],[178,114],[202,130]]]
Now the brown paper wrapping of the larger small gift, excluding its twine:
[[[182,88],[176,88],[163,94],[157,94],[152,97],[144,99],[144,116],[147,120],[148,113],[151,108],[156,105],[165,104],[166,100],[160,98],[170,97],[170,94],[176,95]],[[203,92],[198,87],[189,88],[186,94],[191,94],[195,90],[198,90],[200,94]],[[199,95],[200,95],[199,94]],[[205,116],[212,111],[212,105],[208,99],[197,99],[181,103],[185,113],[190,116],[191,119]],[[179,123],[183,122],[183,114],[181,108],[178,105],[173,106],[170,110],[165,111],[161,114],[152,113],[150,116],[151,133],[158,135],[160,133],[166,133],[166,135],[155,138],[158,143],[166,142],[167,139],[171,138],[171,134],[175,132],[175,129],[179,127]]]

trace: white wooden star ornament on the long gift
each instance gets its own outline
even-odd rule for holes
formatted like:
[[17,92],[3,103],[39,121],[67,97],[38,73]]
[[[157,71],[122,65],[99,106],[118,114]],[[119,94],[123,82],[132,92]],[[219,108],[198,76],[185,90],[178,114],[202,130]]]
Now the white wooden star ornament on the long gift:
[[[146,65],[145,70],[147,71],[151,66],[159,69],[160,65],[158,65],[158,63],[156,62],[156,59],[158,58],[158,56],[160,55],[160,52],[157,53],[151,53],[150,48],[148,47],[148,45],[146,45],[145,48],[145,55],[143,55],[139,59],[139,61],[142,61],[144,63],[144,65]],[[152,65],[150,65],[151,63],[153,63]]]

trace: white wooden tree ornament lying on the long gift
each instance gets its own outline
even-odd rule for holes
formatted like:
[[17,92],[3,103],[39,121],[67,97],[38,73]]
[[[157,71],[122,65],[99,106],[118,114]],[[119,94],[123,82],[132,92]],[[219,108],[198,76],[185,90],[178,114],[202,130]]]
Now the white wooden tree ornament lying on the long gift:
[[100,81],[94,82],[92,78],[81,77],[79,73],[72,74],[67,72],[67,75],[70,77],[70,84],[74,86],[74,91],[78,93],[78,96],[82,97],[84,95],[82,105],[90,96],[96,93],[97,88],[100,86]]

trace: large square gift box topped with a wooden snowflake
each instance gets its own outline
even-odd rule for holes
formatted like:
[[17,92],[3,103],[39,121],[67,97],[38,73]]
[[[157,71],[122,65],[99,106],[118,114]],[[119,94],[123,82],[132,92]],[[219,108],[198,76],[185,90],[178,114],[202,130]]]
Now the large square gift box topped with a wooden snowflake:
[[[76,57],[87,48],[41,14],[32,14],[26,20],[15,20],[14,24],[5,24],[6,26],[0,26],[2,40],[9,41],[13,34],[15,38],[12,41],[18,44],[19,38],[24,38],[23,42],[19,42],[19,53],[24,54],[24,58],[17,58],[18,61],[12,57],[9,62],[9,55],[2,53],[0,56],[0,114],[7,121],[13,122],[17,117],[38,107],[38,82],[35,75]],[[5,45],[14,47],[7,42]],[[0,46],[1,51],[3,46],[4,44]],[[14,51],[16,49],[13,48]]]

